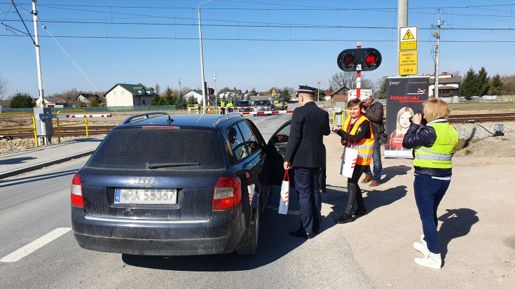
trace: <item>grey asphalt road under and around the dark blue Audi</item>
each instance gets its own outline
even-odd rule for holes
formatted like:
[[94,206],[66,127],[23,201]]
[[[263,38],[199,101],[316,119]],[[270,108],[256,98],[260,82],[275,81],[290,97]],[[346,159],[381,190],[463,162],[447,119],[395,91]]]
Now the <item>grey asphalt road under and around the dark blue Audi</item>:
[[[252,120],[268,140],[289,118]],[[298,227],[298,203],[292,194],[289,214],[279,215],[279,188],[263,214],[254,257],[166,259],[82,249],[70,229],[69,186],[86,160],[0,181],[0,288],[371,288],[332,219],[311,240],[289,236]]]

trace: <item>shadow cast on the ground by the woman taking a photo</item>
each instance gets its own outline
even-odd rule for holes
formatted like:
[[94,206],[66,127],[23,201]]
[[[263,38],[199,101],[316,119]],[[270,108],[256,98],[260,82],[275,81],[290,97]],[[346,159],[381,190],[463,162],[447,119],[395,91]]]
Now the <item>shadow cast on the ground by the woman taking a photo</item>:
[[452,239],[469,234],[472,225],[479,222],[477,212],[472,209],[447,209],[447,213],[438,218],[442,222],[438,233],[438,244],[442,260],[447,255],[447,246]]

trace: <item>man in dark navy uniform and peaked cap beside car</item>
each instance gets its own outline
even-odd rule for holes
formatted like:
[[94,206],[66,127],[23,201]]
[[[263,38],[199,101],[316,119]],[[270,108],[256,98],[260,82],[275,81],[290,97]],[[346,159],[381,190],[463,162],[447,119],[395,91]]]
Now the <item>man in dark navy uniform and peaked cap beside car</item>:
[[324,165],[323,136],[329,135],[329,113],[315,104],[315,88],[299,85],[298,104],[291,115],[288,146],[284,153],[284,169],[293,167],[301,227],[289,234],[311,239],[320,232],[322,198],[318,178]]

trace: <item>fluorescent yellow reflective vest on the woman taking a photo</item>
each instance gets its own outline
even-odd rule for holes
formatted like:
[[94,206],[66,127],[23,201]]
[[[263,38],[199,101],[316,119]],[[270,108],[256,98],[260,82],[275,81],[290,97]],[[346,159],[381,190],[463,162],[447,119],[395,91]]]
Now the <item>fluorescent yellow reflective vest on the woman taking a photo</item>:
[[434,169],[451,169],[453,164],[451,157],[453,149],[458,144],[458,132],[451,127],[447,120],[435,120],[427,124],[433,127],[437,132],[437,140],[430,148],[425,146],[417,146],[413,148],[414,159],[413,166],[429,167]]

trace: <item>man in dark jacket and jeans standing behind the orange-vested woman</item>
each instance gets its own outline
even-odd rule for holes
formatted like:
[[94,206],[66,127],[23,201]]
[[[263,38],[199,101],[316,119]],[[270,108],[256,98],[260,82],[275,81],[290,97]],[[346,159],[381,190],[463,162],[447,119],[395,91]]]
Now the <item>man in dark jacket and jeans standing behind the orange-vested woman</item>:
[[365,108],[362,113],[371,121],[373,137],[376,141],[373,143],[373,174],[370,169],[365,172],[366,176],[362,183],[370,183],[371,187],[376,187],[380,184],[381,176],[383,175],[383,164],[381,163],[381,146],[380,138],[381,134],[385,132],[385,125],[383,124],[383,104],[378,102],[376,99],[371,98],[369,95],[365,95],[359,98],[363,101]]

